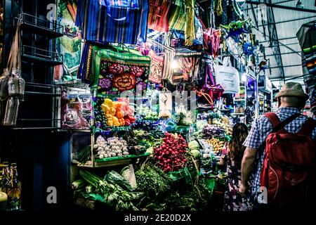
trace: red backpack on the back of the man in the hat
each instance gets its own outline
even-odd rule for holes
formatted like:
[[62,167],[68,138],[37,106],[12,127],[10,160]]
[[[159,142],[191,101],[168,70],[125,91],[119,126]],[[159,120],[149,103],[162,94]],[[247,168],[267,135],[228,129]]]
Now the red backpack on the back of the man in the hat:
[[284,129],[299,114],[283,122],[275,113],[265,113],[272,132],[265,140],[265,158],[261,170],[261,186],[267,188],[268,203],[307,203],[310,186],[316,177],[316,144],[310,134],[316,121],[312,118],[301,130],[291,134]]

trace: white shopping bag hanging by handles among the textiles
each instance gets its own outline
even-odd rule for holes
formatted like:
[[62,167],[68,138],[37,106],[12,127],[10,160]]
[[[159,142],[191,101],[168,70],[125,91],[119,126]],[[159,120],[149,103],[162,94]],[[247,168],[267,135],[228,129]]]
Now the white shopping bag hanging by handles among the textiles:
[[239,92],[239,72],[230,62],[229,57],[223,59],[223,65],[217,65],[215,68],[217,84],[220,84],[225,90],[225,94],[235,94]]

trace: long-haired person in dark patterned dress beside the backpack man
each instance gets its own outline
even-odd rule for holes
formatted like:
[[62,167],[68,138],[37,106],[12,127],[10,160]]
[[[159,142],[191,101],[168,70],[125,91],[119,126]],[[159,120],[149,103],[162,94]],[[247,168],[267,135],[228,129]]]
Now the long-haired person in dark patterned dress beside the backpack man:
[[[242,180],[241,164],[245,147],[242,145],[248,135],[246,124],[237,123],[232,128],[232,140],[226,146],[226,151],[220,158],[220,165],[227,165],[228,180],[225,186],[224,211],[247,211],[252,206],[238,192]],[[249,186],[251,183],[249,181]]]

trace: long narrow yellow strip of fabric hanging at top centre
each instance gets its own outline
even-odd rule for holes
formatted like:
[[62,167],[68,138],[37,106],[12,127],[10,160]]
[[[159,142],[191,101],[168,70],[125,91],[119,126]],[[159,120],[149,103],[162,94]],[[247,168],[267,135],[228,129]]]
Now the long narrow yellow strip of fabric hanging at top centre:
[[185,45],[192,46],[195,39],[195,0],[185,1]]

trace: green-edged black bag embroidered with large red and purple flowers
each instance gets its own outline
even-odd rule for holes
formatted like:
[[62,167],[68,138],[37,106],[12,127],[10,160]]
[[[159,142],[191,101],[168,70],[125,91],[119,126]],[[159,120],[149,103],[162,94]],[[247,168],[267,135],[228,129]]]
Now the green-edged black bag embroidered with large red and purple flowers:
[[130,91],[134,96],[147,90],[150,74],[150,57],[139,51],[109,46],[96,50],[93,47],[93,74],[98,82],[98,94],[119,95]]

